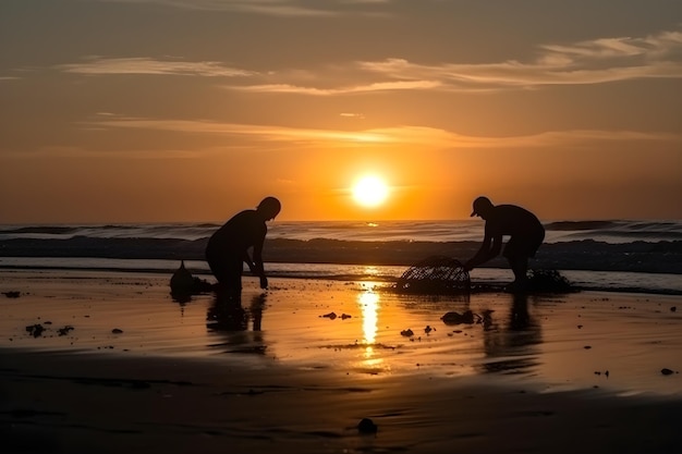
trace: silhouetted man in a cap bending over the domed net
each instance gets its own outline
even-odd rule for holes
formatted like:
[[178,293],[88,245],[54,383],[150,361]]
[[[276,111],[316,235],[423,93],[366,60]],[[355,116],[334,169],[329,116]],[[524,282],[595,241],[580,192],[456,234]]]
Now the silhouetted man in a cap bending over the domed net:
[[474,200],[473,216],[486,221],[483,244],[464,268],[470,271],[497,257],[502,250],[502,236],[509,242],[502,255],[514,272],[509,290],[523,290],[527,284],[528,258],[534,257],[545,240],[545,228],[531,211],[515,205],[495,206],[487,197]]

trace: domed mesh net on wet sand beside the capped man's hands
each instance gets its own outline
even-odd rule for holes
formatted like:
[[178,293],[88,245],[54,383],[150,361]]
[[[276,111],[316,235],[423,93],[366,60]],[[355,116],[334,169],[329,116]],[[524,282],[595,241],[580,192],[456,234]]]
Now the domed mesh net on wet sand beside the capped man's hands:
[[468,293],[471,280],[464,266],[446,256],[431,256],[413,265],[395,284],[398,292],[422,294]]

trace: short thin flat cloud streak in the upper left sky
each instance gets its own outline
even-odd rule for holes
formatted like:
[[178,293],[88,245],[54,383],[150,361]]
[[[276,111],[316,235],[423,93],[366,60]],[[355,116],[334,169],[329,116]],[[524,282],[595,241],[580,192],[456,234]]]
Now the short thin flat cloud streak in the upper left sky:
[[92,56],[80,63],[60,64],[59,71],[86,75],[156,74],[205,77],[240,77],[255,73],[229,68],[216,61],[188,62],[178,59],[151,59],[146,57],[110,59]]

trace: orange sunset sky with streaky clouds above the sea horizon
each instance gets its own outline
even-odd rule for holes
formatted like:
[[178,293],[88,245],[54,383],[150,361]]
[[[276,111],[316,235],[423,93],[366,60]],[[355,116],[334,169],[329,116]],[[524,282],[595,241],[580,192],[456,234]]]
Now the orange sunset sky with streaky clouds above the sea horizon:
[[[383,203],[353,185],[373,175]],[[679,0],[1,0],[0,223],[682,219]]]

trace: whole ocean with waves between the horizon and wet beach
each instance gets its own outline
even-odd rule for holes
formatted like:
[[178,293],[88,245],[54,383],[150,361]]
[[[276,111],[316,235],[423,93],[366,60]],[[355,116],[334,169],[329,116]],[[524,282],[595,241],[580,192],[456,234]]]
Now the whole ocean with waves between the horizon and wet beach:
[[[555,269],[576,287],[682,294],[682,221],[544,222],[546,238],[532,269]],[[272,278],[398,279],[428,256],[461,261],[477,250],[484,222],[381,221],[269,224],[264,258]],[[204,248],[218,223],[0,225],[0,269],[92,269],[172,273],[180,260],[212,279]],[[504,283],[502,258],[471,273]]]

